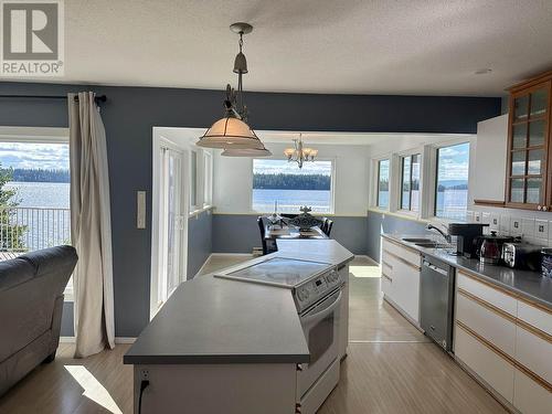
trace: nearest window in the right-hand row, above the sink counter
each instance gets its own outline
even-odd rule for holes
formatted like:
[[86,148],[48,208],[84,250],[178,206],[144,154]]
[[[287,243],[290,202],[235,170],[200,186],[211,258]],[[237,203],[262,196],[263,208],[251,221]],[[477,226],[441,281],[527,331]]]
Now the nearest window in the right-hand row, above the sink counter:
[[435,215],[465,220],[468,205],[469,142],[437,149]]

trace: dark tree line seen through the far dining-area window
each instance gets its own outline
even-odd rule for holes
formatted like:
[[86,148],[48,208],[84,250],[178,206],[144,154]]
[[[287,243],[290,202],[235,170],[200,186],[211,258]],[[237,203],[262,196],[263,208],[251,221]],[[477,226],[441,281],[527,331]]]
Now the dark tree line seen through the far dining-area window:
[[254,173],[255,190],[330,190],[331,177],[325,174]]

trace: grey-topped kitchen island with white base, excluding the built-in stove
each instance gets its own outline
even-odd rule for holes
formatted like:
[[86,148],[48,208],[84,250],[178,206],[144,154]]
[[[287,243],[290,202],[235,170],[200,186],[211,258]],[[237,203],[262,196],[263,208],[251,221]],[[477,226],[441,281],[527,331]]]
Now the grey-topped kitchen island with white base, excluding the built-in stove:
[[[278,241],[278,248],[220,273],[290,258],[323,262],[348,275],[353,258],[332,240]],[[340,297],[343,293],[344,288]],[[347,320],[340,318],[343,335]],[[347,338],[339,337],[342,357]],[[205,275],[178,287],[124,362],[134,364],[135,412],[147,384],[141,399],[145,414],[293,414],[300,397],[298,378],[312,361],[290,289]]]

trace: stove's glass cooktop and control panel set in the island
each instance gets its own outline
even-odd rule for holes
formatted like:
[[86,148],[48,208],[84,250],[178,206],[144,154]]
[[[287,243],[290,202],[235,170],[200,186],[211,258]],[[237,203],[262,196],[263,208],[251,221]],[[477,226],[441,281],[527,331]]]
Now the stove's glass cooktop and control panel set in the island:
[[299,314],[343,283],[336,266],[286,257],[274,257],[215,277],[291,289]]

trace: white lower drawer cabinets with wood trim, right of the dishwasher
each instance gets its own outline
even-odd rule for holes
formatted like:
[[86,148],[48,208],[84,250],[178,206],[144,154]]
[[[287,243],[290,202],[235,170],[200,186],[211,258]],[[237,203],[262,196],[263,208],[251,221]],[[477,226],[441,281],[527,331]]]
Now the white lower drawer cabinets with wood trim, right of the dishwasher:
[[552,413],[552,312],[461,272],[456,358],[523,414]]

